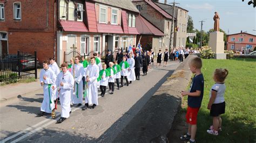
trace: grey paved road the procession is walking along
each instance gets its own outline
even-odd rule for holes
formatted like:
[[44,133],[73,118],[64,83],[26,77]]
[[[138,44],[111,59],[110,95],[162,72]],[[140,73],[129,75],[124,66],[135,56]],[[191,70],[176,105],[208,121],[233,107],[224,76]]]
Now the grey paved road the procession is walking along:
[[82,111],[84,105],[73,107],[71,117],[62,124],[56,124],[60,105],[55,120],[50,115],[36,117],[43,101],[42,89],[1,103],[1,141],[113,141],[178,65],[175,61],[167,67],[151,69],[147,76],[141,76],[140,81],[134,81],[129,87],[99,97],[99,105],[93,110]]

